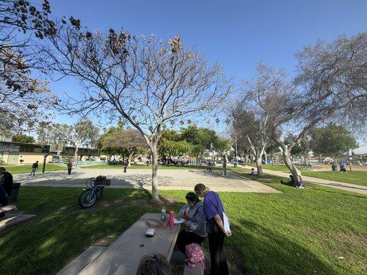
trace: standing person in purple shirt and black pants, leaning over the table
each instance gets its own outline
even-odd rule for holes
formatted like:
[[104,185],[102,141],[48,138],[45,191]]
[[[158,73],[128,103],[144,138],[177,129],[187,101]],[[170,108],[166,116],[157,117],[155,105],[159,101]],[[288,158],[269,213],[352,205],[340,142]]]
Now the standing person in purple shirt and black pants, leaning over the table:
[[224,230],[223,204],[218,193],[209,190],[204,184],[194,188],[199,197],[204,197],[202,208],[207,219],[207,233],[211,260],[211,275],[228,275],[227,256],[224,251],[224,236],[231,236]]

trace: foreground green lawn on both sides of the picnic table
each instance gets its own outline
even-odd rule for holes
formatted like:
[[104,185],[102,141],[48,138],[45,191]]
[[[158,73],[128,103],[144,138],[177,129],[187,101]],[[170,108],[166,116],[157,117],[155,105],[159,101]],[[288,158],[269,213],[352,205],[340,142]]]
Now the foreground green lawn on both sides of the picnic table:
[[[367,197],[324,186],[299,190],[269,184],[280,194],[220,192],[233,235],[225,246],[233,274],[366,274]],[[79,188],[21,187],[21,211],[31,221],[0,234],[1,275],[55,274],[98,239],[112,239],[151,206],[147,191],[105,190],[103,205],[78,208]],[[160,191],[169,210],[184,190]],[[112,237],[112,238],[110,238]],[[205,245],[207,247],[207,244]]]

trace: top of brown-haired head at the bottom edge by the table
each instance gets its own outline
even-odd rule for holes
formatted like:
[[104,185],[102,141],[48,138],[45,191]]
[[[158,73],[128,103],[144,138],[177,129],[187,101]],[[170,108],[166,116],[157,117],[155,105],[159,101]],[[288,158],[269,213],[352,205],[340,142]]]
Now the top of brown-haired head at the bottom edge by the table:
[[136,275],[172,275],[172,270],[165,256],[157,253],[140,259]]

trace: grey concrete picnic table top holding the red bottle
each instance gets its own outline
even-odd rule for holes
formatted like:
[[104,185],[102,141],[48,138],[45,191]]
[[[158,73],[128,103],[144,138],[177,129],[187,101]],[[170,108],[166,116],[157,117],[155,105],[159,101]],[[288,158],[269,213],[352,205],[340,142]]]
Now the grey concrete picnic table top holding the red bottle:
[[160,213],[143,214],[130,228],[125,230],[109,247],[79,275],[132,275],[136,274],[139,261],[147,254],[160,253],[171,259],[180,225],[174,228],[155,228],[154,236],[145,236],[149,219],[160,219]]

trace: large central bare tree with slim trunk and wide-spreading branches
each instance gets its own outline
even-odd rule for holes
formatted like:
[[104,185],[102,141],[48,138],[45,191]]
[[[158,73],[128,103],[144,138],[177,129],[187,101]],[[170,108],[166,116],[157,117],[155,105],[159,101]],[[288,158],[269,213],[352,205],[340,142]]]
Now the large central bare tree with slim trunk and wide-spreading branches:
[[219,65],[209,67],[200,53],[184,48],[180,37],[168,43],[126,32],[81,31],[80,21],[58,23],[44,49],[61,76],[85,87],[63,110],[94,113],[111,121],[122,116],[145,138],[152,156],[152,200],[158,197],[158,140],[162,129],[189,115],[210,114],[231,92]]

